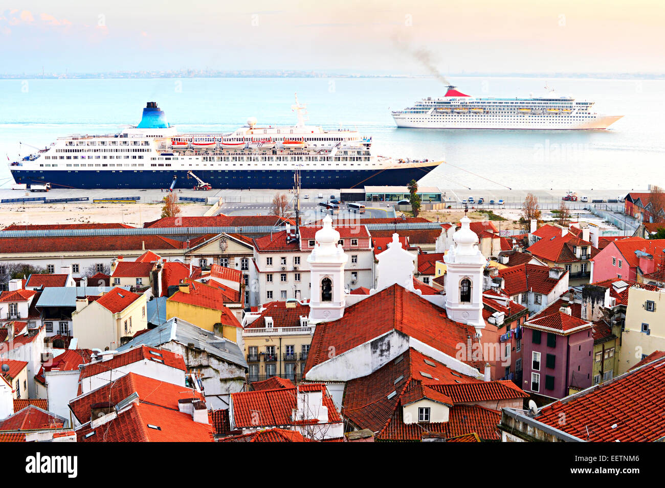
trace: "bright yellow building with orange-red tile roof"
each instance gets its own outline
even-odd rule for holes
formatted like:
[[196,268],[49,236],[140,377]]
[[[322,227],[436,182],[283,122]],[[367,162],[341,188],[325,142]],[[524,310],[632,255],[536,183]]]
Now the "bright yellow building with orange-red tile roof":
[[[240,321],[236,315],[241,313],[239,296],[240,291],[186,280],[166,300],[166,320],[177,317],[206,331],[216,331],[225,339],[237,343],[241,337]],[[235,305],[235,309],[231,305]]]

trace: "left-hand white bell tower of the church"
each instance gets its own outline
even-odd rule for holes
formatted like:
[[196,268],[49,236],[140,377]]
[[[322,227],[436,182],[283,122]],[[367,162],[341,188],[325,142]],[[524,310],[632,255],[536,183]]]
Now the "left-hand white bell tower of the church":
[[339,244],[339,232],[332,228],[330,215],[325,216],[323,228],[314,238],[314,250],[307,258],[312,286],[308,321],[329,322],[344,315],[344,265],[348,256]]

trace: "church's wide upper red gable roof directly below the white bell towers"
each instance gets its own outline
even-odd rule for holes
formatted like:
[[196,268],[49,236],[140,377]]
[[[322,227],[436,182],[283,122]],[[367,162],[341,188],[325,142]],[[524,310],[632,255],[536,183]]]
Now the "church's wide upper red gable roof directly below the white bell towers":
[[[471,341],[477,341],[473,326],[450,320],[445,309],[400,285],[392,285],[347,307],[342,318],[317,325],[305,372],[327,361],[329,347],[340,355],[392,330],[451,357],[456,357],[458,345],[466,344],[469,336]],[[474,367],[483,366],[467,362]]]

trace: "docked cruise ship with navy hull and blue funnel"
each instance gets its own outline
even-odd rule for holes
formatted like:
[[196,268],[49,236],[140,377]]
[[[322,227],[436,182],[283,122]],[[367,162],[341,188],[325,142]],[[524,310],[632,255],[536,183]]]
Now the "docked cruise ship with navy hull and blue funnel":
[[339,189],[406,185],[443,162],[374,155],[371,137],[305,125],[297,96],[292,108],[296,125],[250,118],[233,133],[180,133],[148,102],[136,127],[61,137],[10,170],[18,184],[83,189],[287,189],[300,170],[303,188]]

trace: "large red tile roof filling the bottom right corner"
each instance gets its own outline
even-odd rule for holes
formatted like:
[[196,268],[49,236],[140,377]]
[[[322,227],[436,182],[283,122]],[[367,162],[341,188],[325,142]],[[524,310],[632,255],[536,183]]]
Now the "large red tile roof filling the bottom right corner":
[[588,442],[654,442],[665,433],[665,416],[659,414],[664,410],[662,357],[553,402],[534,420]]

